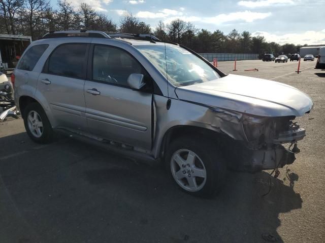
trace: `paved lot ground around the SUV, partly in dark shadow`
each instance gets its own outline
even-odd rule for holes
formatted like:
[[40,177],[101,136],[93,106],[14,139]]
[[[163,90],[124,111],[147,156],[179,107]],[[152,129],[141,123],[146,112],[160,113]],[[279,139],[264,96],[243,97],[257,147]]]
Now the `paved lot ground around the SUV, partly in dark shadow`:
[[[315,62],[219,62],[226,73],[273,79],[314,101],[293,165],[229,172],[223,192],[181,192],[157,165],[57,135],[31,142],[22,119],[0,123],[0,242],[324,242],[325,70]],[[244,71],[257,68],[259,71]]]

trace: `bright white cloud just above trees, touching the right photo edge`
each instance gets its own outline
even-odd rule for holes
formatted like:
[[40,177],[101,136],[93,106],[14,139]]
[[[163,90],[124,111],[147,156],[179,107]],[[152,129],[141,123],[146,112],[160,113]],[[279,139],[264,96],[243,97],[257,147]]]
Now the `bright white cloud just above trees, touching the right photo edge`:
[[256,31],[252,36],[263,35],[267,42],[276,42],[280,45],[293,43],[295,45],[325,44],[325,29],[320,31],[305,31],[301,33],[275,34],[266,31]]

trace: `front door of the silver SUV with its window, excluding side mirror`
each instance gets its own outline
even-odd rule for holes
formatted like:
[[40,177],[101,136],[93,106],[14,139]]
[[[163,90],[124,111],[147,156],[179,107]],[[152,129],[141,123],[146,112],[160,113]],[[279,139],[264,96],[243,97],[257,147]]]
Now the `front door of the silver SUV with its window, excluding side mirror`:
[[[108,45],[93,45],[85,82],[88,131],[101,138],[151,149],[152,79],[128,52]],[[127,85],[131,73],[142,73],[140,91]]]

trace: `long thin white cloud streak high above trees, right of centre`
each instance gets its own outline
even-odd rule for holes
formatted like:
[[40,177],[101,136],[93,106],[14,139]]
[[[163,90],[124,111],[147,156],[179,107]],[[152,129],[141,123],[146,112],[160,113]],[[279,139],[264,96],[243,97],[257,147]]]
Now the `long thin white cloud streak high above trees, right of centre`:
[[244,12],[234,12],[229,14],[219,14],[214,17],[173,16],[167,18],[164,22],[170,23],[171,21],[180,18],[184,21],[189,21],[189,22],[202,22],[202,23],[218,25],[218,24],[223,24],[223,23],[233,22],[233,21],[244,21],[249,23],[257,19],[265,19],[269,16],[271,16],[271,13],[257,13],[257,12],[244,11]]

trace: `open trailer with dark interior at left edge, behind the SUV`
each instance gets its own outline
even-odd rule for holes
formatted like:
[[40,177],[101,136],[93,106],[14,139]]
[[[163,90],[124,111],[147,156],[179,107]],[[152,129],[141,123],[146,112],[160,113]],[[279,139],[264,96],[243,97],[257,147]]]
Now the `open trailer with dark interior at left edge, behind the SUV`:
[[0,34],[0,69],[14,69],[24,50],[31,43],[31,36]]

